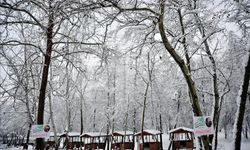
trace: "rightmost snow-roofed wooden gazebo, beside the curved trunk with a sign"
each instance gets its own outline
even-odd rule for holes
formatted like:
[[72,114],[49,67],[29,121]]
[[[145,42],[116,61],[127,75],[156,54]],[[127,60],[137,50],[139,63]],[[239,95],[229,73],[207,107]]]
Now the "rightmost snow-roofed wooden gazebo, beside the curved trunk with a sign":
[[169,132],[170,146],[172,150],[178,149],[194,149],[194,133],[193,129],[178,127]]

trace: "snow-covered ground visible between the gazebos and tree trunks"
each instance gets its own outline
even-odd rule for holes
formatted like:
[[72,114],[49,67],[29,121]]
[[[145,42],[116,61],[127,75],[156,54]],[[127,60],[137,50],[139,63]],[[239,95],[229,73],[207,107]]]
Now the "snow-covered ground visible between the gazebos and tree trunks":
[[[168,135],[167,134],[163,134],[163,149],[167,150],[168,146],[169,146],[169,140],[168,140]],[[232,146],[231,146],[231,141],[232,139],[224,139],[223,134],[219,134],[218,137],[219,141],[218,141],[218,150],[231,150]],[[0,149],[1,150],[22,150],[22,147],[9,147],[7,148],[6,145],[0,145]],[[136,150],[137,148],[135,148]],[[29,147],[29,150],[34,150],[33,147]],[[250,139],[242,139],[242,143],[241,143],[241,150],[250,150]]]

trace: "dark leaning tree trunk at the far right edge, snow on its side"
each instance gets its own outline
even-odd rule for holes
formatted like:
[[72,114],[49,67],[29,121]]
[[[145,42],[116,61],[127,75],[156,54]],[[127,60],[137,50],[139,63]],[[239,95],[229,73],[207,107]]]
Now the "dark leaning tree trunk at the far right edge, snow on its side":
[[248,54],[247,65],[245,67],[245,74],[243,79],[243,84],[241,87],[240,93],[240,104],[238,106],[237,114],[236,114],[236,121],[234,123],[234,149],[238,150],[241,146],[241,132],[242,132],[242,124],[244,120],[244,113],[246,108],[246,101],[247,101],[247,91],[249,86],[249,79],[250,79],[250,52]]

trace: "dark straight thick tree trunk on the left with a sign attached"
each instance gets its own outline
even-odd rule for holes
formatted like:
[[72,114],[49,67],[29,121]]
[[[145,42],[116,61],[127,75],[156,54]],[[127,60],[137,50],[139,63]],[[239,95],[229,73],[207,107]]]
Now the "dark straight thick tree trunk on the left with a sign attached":
[[[53,45],[52,38],[53,38],[54,18],[53,18],[51,3],[52,0],[49,1],[50,13],[49,13],[48,28],[47,28],[47,49],[43,65],[42,82],[41,82],[39,101],[38,101],[37,124],[43,124],[46,87],[48,82],[49,65],[50,65],[52,45]],[[42,138],[36,139],[36,149],[37,150],[44,149],[44,140]]]

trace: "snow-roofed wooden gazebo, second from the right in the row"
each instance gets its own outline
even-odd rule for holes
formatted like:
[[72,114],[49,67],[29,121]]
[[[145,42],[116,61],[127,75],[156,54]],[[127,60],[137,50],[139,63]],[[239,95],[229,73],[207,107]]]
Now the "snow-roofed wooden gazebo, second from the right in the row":
[[[144,130],[135,134],[139,141],[139,149],[162,150],[162,133],[158,130]],[[143,144],[144,143],[144,144]]]

